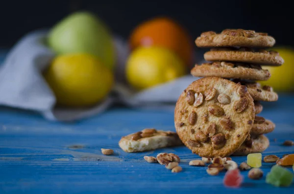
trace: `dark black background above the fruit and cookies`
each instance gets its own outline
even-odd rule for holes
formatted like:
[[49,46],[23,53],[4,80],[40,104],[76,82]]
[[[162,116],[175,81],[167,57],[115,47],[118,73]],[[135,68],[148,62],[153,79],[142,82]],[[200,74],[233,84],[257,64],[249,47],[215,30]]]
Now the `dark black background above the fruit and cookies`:
[[5,0],[0,7],[0,48],[9,48],[26,33],[49,28],[77,10],[97,14],[124,38],[144,20],[170,16],[193,39],[202,31],[243,28],[267,32],[277,45],[294,46],[292,4],[283,0]]

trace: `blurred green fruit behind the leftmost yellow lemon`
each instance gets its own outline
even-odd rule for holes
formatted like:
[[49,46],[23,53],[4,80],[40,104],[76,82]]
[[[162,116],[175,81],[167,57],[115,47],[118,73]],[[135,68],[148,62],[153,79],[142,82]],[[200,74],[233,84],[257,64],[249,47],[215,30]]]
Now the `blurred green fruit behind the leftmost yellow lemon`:
[[87,12],[74,13],[57,23],[49,32],[49,46],[57,54],[89,53],[113,69],[115,49],[105,24]]

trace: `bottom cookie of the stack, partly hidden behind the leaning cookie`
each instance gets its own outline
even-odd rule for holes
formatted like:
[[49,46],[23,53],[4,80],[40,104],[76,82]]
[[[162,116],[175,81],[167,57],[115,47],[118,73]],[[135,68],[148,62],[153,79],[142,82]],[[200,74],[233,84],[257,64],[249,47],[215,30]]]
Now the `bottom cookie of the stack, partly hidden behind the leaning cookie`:
[[232,155],[248,155],[249,153],[260,153],[270,146],[269,139],[264,135],[258,135],[245,141]]

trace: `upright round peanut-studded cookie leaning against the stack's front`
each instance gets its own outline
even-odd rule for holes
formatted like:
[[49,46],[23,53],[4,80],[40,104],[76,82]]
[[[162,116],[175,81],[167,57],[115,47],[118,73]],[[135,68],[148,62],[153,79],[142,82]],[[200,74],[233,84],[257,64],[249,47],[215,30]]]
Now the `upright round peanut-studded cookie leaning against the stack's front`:
[[218,77],[190,84],[174,110],[179,138],[202,157],[232,154],[245,141],[254,118],[253,99],[246,87]]

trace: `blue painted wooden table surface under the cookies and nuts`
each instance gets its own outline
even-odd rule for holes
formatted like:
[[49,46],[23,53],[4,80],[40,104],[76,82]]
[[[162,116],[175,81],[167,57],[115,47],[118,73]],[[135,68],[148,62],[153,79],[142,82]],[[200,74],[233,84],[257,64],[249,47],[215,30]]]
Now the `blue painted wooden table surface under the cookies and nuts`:
[[[276,123],[268,134],[270,148],[263,155],[294,153],[284,147],[294,140],[294,97],[280,95],[275,103],[263,103],[260,114]],[[272,164],[263,163],[264,177],[251,180],[244,175],[240,189],[223,186],[224,172],[210,176],[205,167],[191,167],[200,157],[186,147],[166,148],[144,153],[125,153],[118,146],[121,136],[144,129],[175,130],[172,111],[110,108],[105,113],[76,123],[56,123],[24,110],[0,108],[0,194],[54,193],[206,193],[250,192],[294,193],[294,184],[275,188],[265,183]],[[115,151],[101,154],[101,148]],[[181,158],[183,171],[172,173],[159,164],[149,164],[144,155],[173,152]],[[232,157],[238,164],[245,156]],[[293,171],[289,167],[289,170]]]

